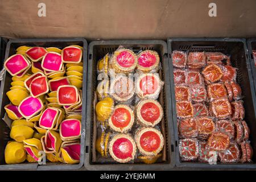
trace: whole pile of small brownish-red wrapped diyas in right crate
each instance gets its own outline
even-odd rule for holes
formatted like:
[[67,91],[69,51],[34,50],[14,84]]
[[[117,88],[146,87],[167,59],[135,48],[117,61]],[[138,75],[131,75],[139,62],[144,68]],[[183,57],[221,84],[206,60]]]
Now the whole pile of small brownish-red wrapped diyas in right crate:
[[250,130],[230,56],[175,50],[172,64],[180,160],[208,163],[214,155],[221,163],[251,162]]

